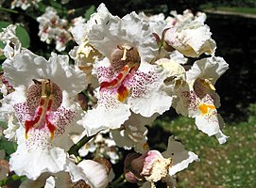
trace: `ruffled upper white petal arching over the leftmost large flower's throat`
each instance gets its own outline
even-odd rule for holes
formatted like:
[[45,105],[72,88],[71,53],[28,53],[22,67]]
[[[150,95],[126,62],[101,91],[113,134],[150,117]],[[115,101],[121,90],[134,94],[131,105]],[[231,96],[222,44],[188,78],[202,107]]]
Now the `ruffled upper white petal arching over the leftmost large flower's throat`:
[[52,54],[47,61],[42,56],[25,51],[16,55],[13,60],[6,60],[3,69],[9,83],[15,89],[23,86],[27,90],[33,83],[32,79],[50,79],[73,97],[84,89],[86,82],[84,73],[75,71],[68,62],[67,55]]

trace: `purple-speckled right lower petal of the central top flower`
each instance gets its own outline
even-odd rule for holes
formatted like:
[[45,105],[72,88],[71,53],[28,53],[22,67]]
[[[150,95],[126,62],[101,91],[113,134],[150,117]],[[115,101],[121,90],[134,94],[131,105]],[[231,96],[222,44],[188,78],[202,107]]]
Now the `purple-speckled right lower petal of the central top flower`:
[[158,113],[162,115],[172,104],[172,97],[163,91],[163,80],[167,72],[160,66],[142,63],[131,81],[130,109],[144,117]]

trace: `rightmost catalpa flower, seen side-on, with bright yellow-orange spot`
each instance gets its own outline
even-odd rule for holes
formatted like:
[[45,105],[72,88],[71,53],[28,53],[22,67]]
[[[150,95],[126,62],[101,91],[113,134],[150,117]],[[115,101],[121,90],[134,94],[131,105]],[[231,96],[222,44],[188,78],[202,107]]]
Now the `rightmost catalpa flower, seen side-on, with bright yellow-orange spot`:
[[216,110],[220,102],[214,84],[227,70],[228,64],[221,57],[196,61],[186,71],[186,84],[177,89],[178,100],[174,102],[179,114],[196,118],[197,128],[209,136],[214,134],[221,144],[227,136],[221,132],[224,122]]

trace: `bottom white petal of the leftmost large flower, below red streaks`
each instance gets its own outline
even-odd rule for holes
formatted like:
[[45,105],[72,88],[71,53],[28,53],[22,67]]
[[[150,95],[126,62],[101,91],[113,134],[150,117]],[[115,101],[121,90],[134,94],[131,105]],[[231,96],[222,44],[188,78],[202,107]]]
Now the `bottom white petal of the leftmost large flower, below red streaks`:
[[9,159],[10,170],[19,176],[26,175],[30,180],[36,180],[43,172],[59,172],[66,164],[66,153],[51,146],[48,133],[35,133],[38,134],[30,133],[26,140],[25,129],[20,127],[17,130],[18,149]]

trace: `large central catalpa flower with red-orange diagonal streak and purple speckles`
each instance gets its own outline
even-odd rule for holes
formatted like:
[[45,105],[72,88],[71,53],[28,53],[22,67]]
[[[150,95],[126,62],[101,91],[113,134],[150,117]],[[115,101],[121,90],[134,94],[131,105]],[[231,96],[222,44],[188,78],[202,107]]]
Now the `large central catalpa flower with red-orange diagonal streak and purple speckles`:
[[[89,135],[119,128],[130,116],[130,110],[151,117],[171,105],[171,97],[162,91],[165,71],[149,64],[158,54],[149,24],[143,23],[135,12],[122,19],[114,17],[103,4],[95,14],[88,39],[106,57],[94,64],[100,84],[97,106],[79,122]],[[95,114],[102,118],[94,118]]]

